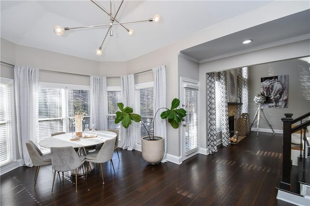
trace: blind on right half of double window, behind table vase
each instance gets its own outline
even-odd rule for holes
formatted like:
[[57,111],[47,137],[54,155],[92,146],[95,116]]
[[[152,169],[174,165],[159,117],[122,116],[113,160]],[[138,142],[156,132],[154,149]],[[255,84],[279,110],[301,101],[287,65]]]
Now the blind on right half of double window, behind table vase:
[[[90,111],[91,111],[91,94],[89,90],[82,89],[68,89],[67,90],[67,108],[68,108],[68,121],[69,121],[69,132],[75,132],[75,126],[73,124],[73,118],[75,114],[85,113],[83,118],[83,128],[88,124],[90,129]],[[94,125],[95,127],[95,125]]]

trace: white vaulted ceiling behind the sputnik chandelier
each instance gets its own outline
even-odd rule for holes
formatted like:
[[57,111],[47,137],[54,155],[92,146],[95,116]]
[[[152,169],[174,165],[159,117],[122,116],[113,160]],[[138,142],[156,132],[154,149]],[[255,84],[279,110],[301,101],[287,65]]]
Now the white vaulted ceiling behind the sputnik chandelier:
[[[105,10],[110,10],[109,1],[99,0],[97,2]],[[269,2],[263,0],[124,1],[116,17],[118,21],[146,20],[156,14],[161,15],[163,21],[159,24],[153,22],[127,24],[126,27],[135,30],[135,35],[132,37],[129,37],[121,26],[113,26],[113,36],[108,35],[103,44],[103,55],[98,57],[94,51],[102,43],[108,27],[70,30],[65,31],[63,36],[58,36],[53,32],[55,25],[79,27],[109,24],[109,16],[90,0],[1,0],[1,38],[14,44],[85,59],[127,61]],[[113,15],[120,3],[119,0],[112,1]],[[190,54],[191,51],[187,52]],[[195,51],[192,50],[192,52]],[[217,52],[220,54],[226,51],[222,49]],[[206,57],[197,58],[205,59]]]

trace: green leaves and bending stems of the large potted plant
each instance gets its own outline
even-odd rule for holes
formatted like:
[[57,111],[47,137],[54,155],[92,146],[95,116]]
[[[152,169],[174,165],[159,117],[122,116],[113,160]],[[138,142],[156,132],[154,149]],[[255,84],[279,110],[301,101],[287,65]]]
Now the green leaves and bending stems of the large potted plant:
[[[162,119],[167,119],[174,129],[179,128],[180,122],[184,121],[184,117],[186,116],[185,109],[183,108],[178,109],[179,105],[180,105],[180,100],[177,98],[173,99],[171,103],[171,109],[168,109],[166,107],[159,108],[155,113],[154,119],[159,110],[165,109],[165,111],[163,111],[160,114],[160,117]],[[117,103],[117,106],[120,108],[120,111],[116,112],[116,118],[114,120],[116,124],[122,122],[123,127],[128,128],[132,121],[135,121],[135,122],[141,121],[141,116],[133,113],[133,109],[131,107],[127,106],[124,108],[123,103]],[[144,126],[146,132],[148,133],[149,137],[151,137],[149,131],[146,129],[144,125],[144,122],[141,121],[141,123]],[[153,123],[153,130],[154,130],[154,120],[152,123]],[[154,139],[154,132],[152,136]]]

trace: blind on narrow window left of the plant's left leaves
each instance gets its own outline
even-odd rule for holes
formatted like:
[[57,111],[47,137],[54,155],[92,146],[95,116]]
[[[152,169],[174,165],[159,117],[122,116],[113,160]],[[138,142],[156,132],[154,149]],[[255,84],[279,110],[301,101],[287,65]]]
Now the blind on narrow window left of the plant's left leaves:
[[122,102],[121,90],[108,90],[108,129],[120,130],[120,123],[115,124],[116,112],[119,111],[117,103]]

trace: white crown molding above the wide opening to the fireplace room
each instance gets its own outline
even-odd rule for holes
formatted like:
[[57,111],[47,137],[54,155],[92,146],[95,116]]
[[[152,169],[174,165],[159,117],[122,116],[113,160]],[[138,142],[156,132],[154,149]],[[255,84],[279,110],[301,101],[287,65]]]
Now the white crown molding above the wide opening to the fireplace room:
[[[305,35],[301,35],[301,36],[297,36],[297,37],[293,37],[293,38],[289,38],[289,39],[285,39],[285,40],[280,40],[280,41],[269,43],[269,44],[263,44],[263,45],[255,46],[255,47],[252,47],[249,49],[244,49],[244,50],[240,50],[240,51],[236,51],[236,52],[227,53],[224,55],[219,55],[219,56],[213,57],[213,58],[202,59],[199,61],[199,63],[214,61],[217,59],[228,58],[228,57],[232,57],[232,56],[236,56],[236,55],[240,55],[240,54],[245,54],[248,52],[253,52],[253,51],[266,49],[266,48],[270,48],[270,47],[274,47],[274,46],[280,46],[280,45],[284,45],[284,44],[290,44],[290,43],[299,42],[299,41],[303,41],[303,40],[307,40],[307,39],[310,39],[310,34],[305,34]],[[195,59],[195,58],[193,58],[193,59]]]

